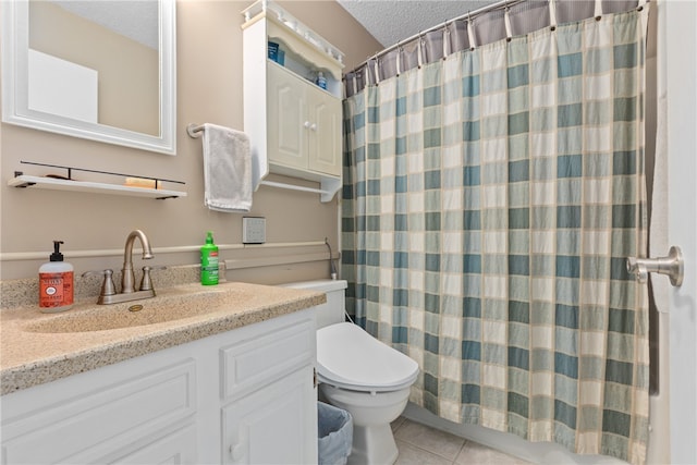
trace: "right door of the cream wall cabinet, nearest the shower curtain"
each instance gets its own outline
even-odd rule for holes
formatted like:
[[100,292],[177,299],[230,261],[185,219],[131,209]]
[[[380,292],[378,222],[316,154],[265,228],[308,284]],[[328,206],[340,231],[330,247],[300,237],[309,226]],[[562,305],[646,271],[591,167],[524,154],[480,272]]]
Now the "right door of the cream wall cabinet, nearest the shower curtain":
[[341,175],[341,100],[309,87],[307,106],[310,120],[308,166],[313,171]]

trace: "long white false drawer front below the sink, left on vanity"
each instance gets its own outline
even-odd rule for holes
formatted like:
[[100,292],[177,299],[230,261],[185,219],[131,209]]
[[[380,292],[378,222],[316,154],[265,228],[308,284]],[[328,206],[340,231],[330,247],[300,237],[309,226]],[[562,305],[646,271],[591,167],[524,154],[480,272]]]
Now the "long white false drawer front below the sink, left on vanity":
[[195,362],[185,359],[106,387],[78,386],[60,395],[63,389],[23,413],[5,412],[11,418],[3,418],[2,462],[95,463],[123,453],[196,413],[195,378]]

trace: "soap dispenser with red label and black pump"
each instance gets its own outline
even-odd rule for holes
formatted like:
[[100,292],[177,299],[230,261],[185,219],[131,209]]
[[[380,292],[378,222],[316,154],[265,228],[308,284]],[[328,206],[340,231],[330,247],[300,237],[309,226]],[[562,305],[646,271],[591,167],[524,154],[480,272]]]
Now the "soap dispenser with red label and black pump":
[[63,261],[63,241],[53,241],[53,253],[39,268],[39,308],[45,314],[73,307],[73,266]]

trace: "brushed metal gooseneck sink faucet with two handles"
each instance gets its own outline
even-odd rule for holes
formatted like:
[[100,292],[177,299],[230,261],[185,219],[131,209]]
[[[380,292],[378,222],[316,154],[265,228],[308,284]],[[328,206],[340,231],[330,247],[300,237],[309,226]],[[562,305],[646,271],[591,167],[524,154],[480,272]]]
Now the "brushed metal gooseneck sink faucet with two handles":
[[150,280],[150,270],[163,269],[164,267],[143,267],[140,289],[136,291],[134,285],[135,276],[133,273],[133,243],[136,238],[140,240],[140,245],[143,246],[143,258],[147,260],[155,257],[155,255],[152,255],[152,249],[150,248],[150,241],[148,241],[145,233],[140,230],[132,231],[126,238],[126,245],[123,250],[123,269],[121,270],[120,293],[117,294],[115,286],[113,285],[112,270],[87,271],[83,273],[83,277],[89,274],[103,274],[105,277],[97,304],[119,304],[121,302],[155,297],[155,290],[152,289],[152,282]]

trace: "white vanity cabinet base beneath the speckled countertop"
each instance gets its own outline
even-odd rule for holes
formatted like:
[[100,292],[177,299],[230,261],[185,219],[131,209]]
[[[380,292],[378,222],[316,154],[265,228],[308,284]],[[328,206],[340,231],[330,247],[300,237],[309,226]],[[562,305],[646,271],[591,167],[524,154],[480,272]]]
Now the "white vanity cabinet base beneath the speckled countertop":
[[3,395],[2,464],[316,463],[314,311]]

